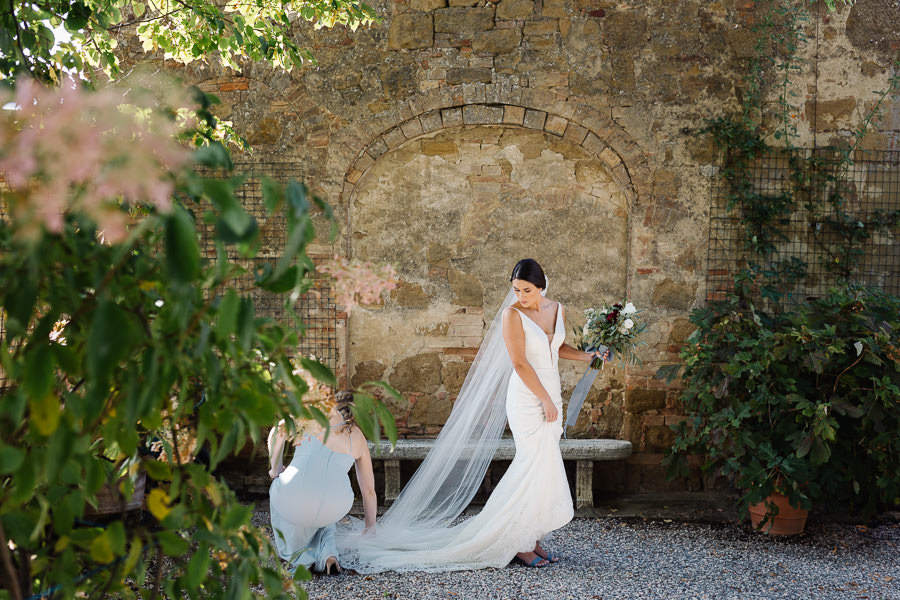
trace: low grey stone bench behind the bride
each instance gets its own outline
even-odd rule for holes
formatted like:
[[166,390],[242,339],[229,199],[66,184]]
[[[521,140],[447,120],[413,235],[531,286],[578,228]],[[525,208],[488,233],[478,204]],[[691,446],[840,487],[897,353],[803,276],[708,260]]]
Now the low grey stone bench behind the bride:
[[[388,441],[381,442],[380,452],[375,444],[369,442],[369,450],[373,461],[384,462],[384,504],[390,506],[400,494],[400,461],[423,460],[433,439],[397,440],[394,451]],[[631,442],[624,440],[570,440],[559,441],[559,449],[563,460],[574,460],[575,471],[575,506],[576,508],[592,508],[594,506],[593,479],[595,460],[621,460],[631,456]],[[494,453],[493,460],[512,460],[516,454],[515,442],[512,439],[500,440],[500,446]]]

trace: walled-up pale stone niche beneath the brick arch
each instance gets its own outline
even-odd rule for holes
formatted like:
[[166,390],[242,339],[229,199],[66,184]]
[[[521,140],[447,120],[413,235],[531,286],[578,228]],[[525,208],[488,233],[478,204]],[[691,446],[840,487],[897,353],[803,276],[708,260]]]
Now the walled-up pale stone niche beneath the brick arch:
[[[386,379],[409,400],[393,407],[401,427],[432,432],[518,259],[544,266],[569,331],[584,308],[621,295],[630,192],[619,164],[565,136],[502,123],[442,127],[372,159],[347,198],[348,246],[393,264],[401,284],[384,306],[351,314],[351,381]],[[564,369],[574,385],[576,365]]]

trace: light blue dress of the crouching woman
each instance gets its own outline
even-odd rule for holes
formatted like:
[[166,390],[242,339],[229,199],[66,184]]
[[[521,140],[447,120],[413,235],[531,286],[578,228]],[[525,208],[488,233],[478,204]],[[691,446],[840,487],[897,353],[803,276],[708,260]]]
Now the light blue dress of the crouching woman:
[[354,462],[349,454],[306,438],[295,447],[291,464],[272,480],[269,512],[275,548],[295,568],[323,571],[328,557],[338,556],[335,523],[353,506],[347,473]]

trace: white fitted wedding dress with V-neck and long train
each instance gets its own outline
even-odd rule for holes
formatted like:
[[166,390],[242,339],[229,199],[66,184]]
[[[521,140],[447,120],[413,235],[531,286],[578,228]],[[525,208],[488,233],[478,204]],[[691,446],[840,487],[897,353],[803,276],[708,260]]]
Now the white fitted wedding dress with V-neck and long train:
[[[481,512],[449,526],[379,524],[375,535],[359,536],[342,548],[342,564],[361,572],[504,567],[516,553],[532,551],[536,541],[571,521],[572,496],[559,451],[562,397],[558,360],[559,347],[565,341],[562,307],[557,308],[552,339],[537,323],[521,312],[519,315],[526,358],[560,416],[548,423],[537,396],[513,371],[506,414],[516,455]],[[464,463],[465,457],[458,462]]]

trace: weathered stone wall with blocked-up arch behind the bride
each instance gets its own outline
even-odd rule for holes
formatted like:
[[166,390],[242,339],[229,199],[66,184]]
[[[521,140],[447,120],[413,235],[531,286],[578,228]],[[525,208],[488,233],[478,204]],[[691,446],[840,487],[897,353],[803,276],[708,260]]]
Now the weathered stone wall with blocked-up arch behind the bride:
[[[440,429],[518,259],[543,264],[569,331],[601,300],[646,308],[643,366],[604,370],[575,435],[632,441],[628,464],[603,467],[607,487],[653,490],[673,485],[659,460],[679,408],[652,375],[705,291],[717,167],[698,131],[737,110],[765,5],[380,1],[368,29],[298,26],[318,60],[304,70],[179,71],[221,98],[255,156],[301,164],[338,209],[337,243],[315,252],[398,268],[382,305],[353,312],[341,360],[350,381],[403,392],[404,435]],[[798,144],[848,136],[900,55],[895,2],[813,10],[792,83]],[[894,99],[867,143],[896,148],[898,128]],[[563,365],[564,396],[581,369]]]

